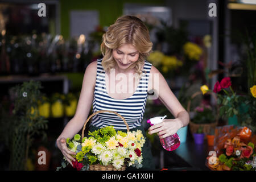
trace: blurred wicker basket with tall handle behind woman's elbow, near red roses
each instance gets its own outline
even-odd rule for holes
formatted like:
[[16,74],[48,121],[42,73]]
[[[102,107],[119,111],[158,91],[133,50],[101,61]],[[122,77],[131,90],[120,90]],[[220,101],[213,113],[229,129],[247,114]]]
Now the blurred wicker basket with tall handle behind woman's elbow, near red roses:
[[[191,96],[191,100],[193,98],[195,98],[196,96],[202,94],[202,92],[196,92]],[[213,98],[217,101],[217,97],[215,94],[213,94],[212,92],[209,92],[209,94],[212,94]],[[188,101],[188,107],[187,107],[187,111],[188,113],[190,112],[191,109],[191,100]],[[203,127],[203,133],[205,134],[205,138],[206,135],[210,133],[210,129],[211,128],[215,128],[218,125],[218,117],[219,117],[219,110],[218,107],[216,109],[216,121],[214,123],[202,123],[202,124],[197,124],[197,123],[193,123],[192,121],[189,122],[189,129],[191,130],[191,133],[196,133],[196,131],[199,129],[199,127]]]

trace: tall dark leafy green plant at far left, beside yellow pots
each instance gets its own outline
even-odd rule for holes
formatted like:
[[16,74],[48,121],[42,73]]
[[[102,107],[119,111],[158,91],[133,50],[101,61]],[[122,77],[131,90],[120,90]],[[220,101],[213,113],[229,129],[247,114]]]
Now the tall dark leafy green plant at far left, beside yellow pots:
[[[42,101],[43,94],[40,92],[42,88],[39,81],[23,82],[22,85],[17,85],[11,89],[14,94],[14,110],[15,121],[13,121],[13,131],[16,133],[12,140],[11,160],[20,160],[25,164],[28,158],[28,149],[30,148],[34,137],[42,136],[42,139],[47,138],[45,130],[47,129],[47,120],[39,115],[38,101]],[[22,150],[18,150],[19,143],[15,143],[18,138],[24,137],[26,140]],[[25,154],[16,155],[16,154]],[[23,164],[23,166],[24,166]],[[11,162],[11,169],[16,169]],[[24,169],[24,167],[23,167]]]

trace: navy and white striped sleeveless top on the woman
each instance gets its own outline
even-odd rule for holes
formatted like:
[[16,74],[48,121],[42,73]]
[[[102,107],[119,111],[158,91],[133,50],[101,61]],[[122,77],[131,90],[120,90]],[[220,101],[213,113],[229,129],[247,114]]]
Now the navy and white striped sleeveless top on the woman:
[[[97,77],[96,85],[94,89],[93,98],[93,113],[98,110],[110,110],[115,111],[125,118],[125,121],[129,125],[129,129],[141,126],[143,114],[145,111],[145,105],[148,98],[148,77],[150,74],[151,63],[144,61],[143,76],[139,81],[136,91],[133,96],[125,99],[114,99],[108,95],[105,85],[105,71],[101,65],[102,59],[97,59]],[[138,83],[138,82],[137,82]],[[127,129],[122,118],[114,113],[98,113],[92,117],[90,125],[96,127],[113,126],[115,130]]]

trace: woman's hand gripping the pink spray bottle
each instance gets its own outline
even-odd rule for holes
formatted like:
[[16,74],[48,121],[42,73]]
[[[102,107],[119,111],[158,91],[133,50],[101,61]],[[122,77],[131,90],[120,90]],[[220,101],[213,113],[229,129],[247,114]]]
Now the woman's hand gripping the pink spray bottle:
[[163,122],[151,126],[148,129],[148,134],[158,133],[160,138],[166,138],[177,133],[177,130],[182,126],[183,124],[179,118],[164,119]]

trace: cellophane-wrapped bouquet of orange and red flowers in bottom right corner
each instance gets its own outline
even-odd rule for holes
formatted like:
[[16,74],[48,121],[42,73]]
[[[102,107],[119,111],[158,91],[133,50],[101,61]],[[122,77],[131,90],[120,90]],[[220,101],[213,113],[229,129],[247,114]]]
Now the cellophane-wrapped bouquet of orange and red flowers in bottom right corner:
[[[226,127],[233,126],[222,129]],[[251,138],[251,130],[247,127],[228,130],[217,134],[215,151],[209,152],[206,165],[214,171],[255,171],[255,135]]]

